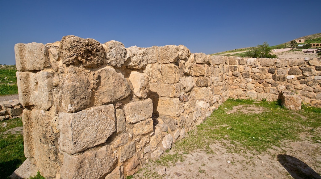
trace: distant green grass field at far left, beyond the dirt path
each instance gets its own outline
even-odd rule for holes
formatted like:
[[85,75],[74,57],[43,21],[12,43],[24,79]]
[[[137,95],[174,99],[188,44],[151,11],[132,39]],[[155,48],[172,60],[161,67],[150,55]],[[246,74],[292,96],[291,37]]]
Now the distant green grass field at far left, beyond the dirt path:
[[18,94],[15,65],[3,65],[0,68],[0,95]]

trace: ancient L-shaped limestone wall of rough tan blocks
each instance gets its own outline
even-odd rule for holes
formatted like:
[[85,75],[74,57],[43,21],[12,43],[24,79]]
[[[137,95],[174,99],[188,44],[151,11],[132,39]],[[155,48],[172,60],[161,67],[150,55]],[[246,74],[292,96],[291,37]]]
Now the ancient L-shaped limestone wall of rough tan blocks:
[[228,98],[321,107],[320,59],[190,53],[65,36],[15,45],[24,153],[13,176],[124,178],[184,138]]

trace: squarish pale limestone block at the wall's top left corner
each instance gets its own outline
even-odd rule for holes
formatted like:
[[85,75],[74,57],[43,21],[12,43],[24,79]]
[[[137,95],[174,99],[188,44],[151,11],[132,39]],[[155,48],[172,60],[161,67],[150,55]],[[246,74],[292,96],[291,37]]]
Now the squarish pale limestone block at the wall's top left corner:
[[14,46],[18,71],[40,71],[50,67],[48,47],[42,43],[19,43]]

